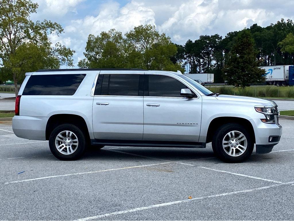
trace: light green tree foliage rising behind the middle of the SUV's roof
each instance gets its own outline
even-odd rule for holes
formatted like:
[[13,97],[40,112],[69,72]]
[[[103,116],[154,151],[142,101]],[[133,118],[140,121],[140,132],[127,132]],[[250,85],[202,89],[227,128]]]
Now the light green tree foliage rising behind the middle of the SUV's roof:
[[159,34],[155,26],[140,25],[127,32],[125,37],[115,29],[102,31],[98,36],[90,34],[85,59],[78,66],[184,71],[181,62],[173,59],[176,54],[177,46],[170,37]]

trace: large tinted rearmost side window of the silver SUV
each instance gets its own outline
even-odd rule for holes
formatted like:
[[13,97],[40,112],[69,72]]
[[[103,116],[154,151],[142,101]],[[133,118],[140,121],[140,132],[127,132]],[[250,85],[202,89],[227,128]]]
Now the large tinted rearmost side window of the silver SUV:
[[73,95],[86,74],[32,75],[23,95]]

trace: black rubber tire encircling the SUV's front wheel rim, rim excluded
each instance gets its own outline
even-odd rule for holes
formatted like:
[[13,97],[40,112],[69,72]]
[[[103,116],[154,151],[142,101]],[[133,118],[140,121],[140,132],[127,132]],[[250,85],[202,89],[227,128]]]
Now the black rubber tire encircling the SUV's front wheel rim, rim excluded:
[[[223,139],[231,131],[239,131],[244,134],[244,136],[247,139],[247,148],[243,152],[243,154],[240,154],[239,156],[230,156],[227,154],[223,148]],[[238,137],[237,137],[238,139]],[[230,148],[230,147],[229,147]],[[250,155],[252,154],[254,148],[254,143],[253,139],[250,136],[248,129],[241,124],[236,124],[236,123],[229,123],[229,124],[224,124],[220,126],[217,130],[215,135],[213,136],[212,140],[212,149],[214,154],[224,162],[228,163],[239,163],[247,160]],[[239,151],[239,150],[236,150]]]

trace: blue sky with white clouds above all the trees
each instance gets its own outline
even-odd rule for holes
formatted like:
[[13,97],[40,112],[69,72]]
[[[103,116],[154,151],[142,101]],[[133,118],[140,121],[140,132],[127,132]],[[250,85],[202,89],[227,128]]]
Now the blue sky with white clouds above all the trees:
[[268,26],[281,18],[294,20],[289,0],[32,0],[39,4],[33,20],[51,20],[64,33],[51,36],[74,49],[74,63],[83,58],[89,34],[115,28],[125,33],[140,24],[152,24],[173,42],[185,44],[203,34],[241,30],[257,23]]

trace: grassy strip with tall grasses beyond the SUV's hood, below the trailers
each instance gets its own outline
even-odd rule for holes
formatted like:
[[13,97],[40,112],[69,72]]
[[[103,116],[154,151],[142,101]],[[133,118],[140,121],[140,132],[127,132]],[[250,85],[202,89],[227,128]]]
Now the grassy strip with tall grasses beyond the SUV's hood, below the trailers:
[[276,86],[206,86],[209,90],[219,94],[241,95],[249,97],[279,97],[294,98],[294,87],[276,87]]

